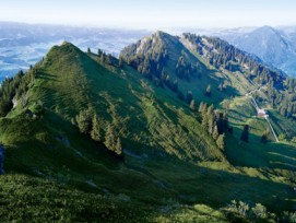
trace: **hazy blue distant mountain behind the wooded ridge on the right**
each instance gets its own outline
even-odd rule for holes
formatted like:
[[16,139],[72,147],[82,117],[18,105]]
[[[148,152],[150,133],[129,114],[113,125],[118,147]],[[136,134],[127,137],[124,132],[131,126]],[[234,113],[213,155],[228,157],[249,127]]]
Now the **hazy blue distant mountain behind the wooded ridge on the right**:
[[271,27],[236,28],[208,32],[234,46],[253,54],[265,63],[296,77],[296,28]]

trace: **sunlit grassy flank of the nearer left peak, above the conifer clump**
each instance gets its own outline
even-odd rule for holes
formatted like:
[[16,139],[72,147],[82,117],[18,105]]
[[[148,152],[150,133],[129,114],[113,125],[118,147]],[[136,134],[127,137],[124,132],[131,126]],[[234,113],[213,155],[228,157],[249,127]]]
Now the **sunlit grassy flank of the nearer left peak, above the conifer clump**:
[[181,109],[182,103],[170,98],[169,92],[135,79],[131,69],[104,68],[96,60],[95,55],[85,55],[70,44],[54,48],[39,68],[31,92],[33,102],[42,101],[68,120],[92,107],[104,128],[113,124],[122,140],[129,140],[130,150],[133,143],[142,143],[143,149],[150,145],[183,159],[223,159],[211,139],[201,137],[191,111]]

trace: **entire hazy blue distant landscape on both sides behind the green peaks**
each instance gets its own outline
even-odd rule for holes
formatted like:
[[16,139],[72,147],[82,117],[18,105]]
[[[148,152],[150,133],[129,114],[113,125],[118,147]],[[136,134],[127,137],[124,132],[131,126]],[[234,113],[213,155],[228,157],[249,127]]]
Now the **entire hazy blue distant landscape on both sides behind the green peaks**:
[[[258,56],[267,64],[296,77],[296,27],[190,31],[199,35],[221,37],[237,48]],[[177,33],[180,32],[183,30]],[[14,75],[20,69],[26,70],[40,60],[52,45],[61,44],[63,40],[75,44],[82,50],[90,47],[95,51],[100,48],[118,56],[125,46],[150,34],[150,31],[0,22],[0,81]]]

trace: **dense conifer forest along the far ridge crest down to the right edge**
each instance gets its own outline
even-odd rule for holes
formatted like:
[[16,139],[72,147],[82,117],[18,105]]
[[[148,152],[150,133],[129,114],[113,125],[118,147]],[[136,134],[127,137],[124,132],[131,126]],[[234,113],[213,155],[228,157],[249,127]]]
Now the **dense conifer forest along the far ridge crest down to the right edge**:
[[[183,34],[196,46],[197,52],[208,58],[210,64],[216,69],[226,69],[232,72],[239,71],[258,85],[265,85],[268,101],[279,113],[287,118],[296,118],[296,79],[286,79],[282,71],[267,67],[260,59],[237,49],[215,37]],[[203,38],[206,39],[206,44]],[[220,84],[220,91],[225,86]],[[206,90],[206,95],[211,93]]]

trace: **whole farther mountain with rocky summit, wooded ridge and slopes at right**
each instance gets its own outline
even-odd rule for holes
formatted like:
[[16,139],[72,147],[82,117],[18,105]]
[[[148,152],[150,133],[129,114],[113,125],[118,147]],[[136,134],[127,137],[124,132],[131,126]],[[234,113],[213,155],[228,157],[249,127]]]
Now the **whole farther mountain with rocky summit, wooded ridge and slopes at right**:
[[[235,139],[226,149],[236,150],[233,142],[240,143],[239,139],[245,125],[250,126],[251,141],[254,143],[254,145],[246,144],[246,148],[261,148],[261,137],[264,132],[267,132],[269,141],[274,141],[269,124],[264,119],[256,117],[257,110],[251,103],[250,95],[270,115],[270,121],[277,136],[286,134],[289,140],[295,136],[288,124],[295,122],[295,120],[285,121],[285,118],[282,117],[277,124],[275,119],[275,116],[279,117],[280,114],[286,117],[294,114],[294,81],[286,80],[286,75],[282,71],[265,67],[260,59],[222,39],[193,34],[183,34],[178,37],[157,32],[126,47],[121,57],[144,77],[152,79],[156,85],[164,85],[165,89],[176,92],[178,96],[179,94],[186,95],[187,92],[192,93],[196,102],[213,103],[216,107],[222,108],[235,130]],[[180,58],[183,61],[181,66]],[[180,68],[183,70],[181,73]],[[167,84],[167,77],[169,77],[170,85]],[[177,91],[171,87],[173,81],[178,83]],[[206,95],[208,87],[211,87],[211,95]],[[277,143],[274,146],[281,145]],[[288,156],[292,155],[285,144],[283,144],[283,151],[282,155],[285,153]],[[234,161],[234,159],[230,160]],[[265,163],[270,162],[268,157],[264,160]],[[244,163],[246,164],[246,162]],[[293,160],[289,164],[294,169]]]

